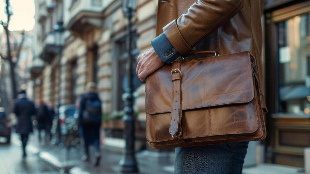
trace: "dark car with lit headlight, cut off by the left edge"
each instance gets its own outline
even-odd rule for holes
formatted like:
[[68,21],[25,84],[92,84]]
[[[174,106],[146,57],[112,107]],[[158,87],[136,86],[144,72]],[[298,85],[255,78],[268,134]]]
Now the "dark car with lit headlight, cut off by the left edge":
[[0,108],[0,137],[6,138],[6,144],[10,144],[11,141],[11,124],[10,120],[5,114],[5,109]]

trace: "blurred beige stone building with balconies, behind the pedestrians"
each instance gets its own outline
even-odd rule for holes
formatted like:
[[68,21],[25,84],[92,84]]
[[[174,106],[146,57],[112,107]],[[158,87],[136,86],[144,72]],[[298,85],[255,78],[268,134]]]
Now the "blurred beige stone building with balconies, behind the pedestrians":
[[[35,6],[33,99],[38,102],[43,98],[55,107],[59,97],[61,105],[75,104],[86,83],[93,81],[102,100],[103,128],[107,136],[121,138],[128,57],[128,20],[121,10],[121,0],[35,0]],[[156,7],[155,0],[138,1],[132,19],[135,57],[151,47]],[[53,29],[59,21],[65,28],[61,36]],[[134,86],[137,134],[145,143],[145,84],[135,76]]]

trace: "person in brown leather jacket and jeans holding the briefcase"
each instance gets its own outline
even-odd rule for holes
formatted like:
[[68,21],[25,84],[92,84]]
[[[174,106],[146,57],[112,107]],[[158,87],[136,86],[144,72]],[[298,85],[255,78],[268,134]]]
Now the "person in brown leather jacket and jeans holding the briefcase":
[[[159,1],[157,37],[152,48],[138,57],[136,74],[145,81],[164,64],[194,50],[217,50],[221,55],[249,51],[262,74],[263,4],[263,0]],[[248,142],[175,148],[175,173],[241,174],[247,147]]]

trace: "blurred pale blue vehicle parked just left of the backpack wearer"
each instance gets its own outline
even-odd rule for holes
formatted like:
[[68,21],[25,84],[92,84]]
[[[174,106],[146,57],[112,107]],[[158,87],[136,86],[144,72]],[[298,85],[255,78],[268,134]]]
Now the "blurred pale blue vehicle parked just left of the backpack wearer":
[[60,139],[58,142],[63,142],[65,145],[79,144],[78,114],[75,105],[60,106],[59,114],[53,120],[51,132]]

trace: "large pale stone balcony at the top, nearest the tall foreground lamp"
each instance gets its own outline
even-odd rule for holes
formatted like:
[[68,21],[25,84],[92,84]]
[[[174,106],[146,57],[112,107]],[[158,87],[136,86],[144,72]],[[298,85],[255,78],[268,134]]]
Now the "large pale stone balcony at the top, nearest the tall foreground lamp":
[[100,28],[102,25],[102,12],[114,0],[73,0],[64,19],[66,29],[81,34],[85,27]]

